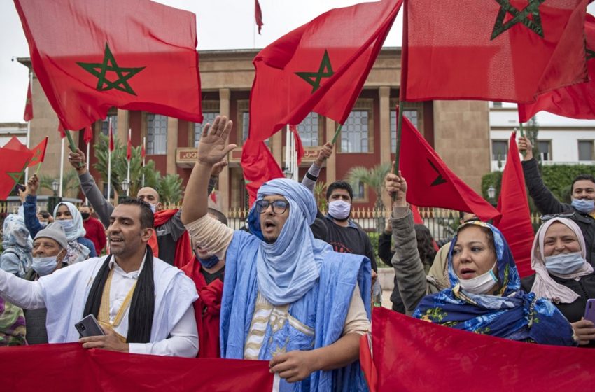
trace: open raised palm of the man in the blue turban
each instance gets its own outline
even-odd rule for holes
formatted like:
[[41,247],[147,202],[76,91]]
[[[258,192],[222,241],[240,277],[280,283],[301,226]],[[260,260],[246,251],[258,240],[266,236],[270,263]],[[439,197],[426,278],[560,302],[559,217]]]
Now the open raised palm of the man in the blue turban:
[[228,136],[232,130],[233,122],[225,116],[217,116],[213,125],[207,124],[202,132],[198,144],[198,162],[213,166],[223,160],[237,144],[227,144]]

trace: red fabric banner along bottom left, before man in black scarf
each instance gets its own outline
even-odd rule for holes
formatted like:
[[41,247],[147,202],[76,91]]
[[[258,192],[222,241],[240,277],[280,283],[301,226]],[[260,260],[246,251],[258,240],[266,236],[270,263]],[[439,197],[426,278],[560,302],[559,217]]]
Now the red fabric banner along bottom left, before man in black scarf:
[[[26,366],[24,364],[27,364]],[[83,349],[78,343],[0,350],[11,391],[272,391],[264,360],[197,359]],[[35,371],[31,371],[35,370]]]

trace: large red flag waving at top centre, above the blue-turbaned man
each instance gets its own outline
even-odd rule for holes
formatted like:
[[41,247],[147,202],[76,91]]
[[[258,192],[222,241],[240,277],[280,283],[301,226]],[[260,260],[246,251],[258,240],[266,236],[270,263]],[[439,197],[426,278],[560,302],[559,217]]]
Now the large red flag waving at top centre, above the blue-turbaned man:
[[344,123],[401,3],[330,10],[261,50],[253,61],[250,139],[264,141],[311,111]]

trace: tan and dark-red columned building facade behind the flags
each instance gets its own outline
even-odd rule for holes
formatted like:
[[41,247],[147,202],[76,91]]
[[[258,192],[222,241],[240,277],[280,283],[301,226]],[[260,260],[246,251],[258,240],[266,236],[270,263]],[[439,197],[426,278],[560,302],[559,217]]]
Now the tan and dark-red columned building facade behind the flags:
[[[218,183],[221,208],[246,207],[248,197],[240,167],[241,145],[248,136],[249,97],[254,78],[252,59],[258,50],[215,50],[199,52],[204,124],[219,113],[234,120],[230,142],[238,148],[230,153],[229,165],[221,173]],[[20,59],[30,67],[29,59]],[[374,167],[394,160],[396,143],[396,114],[400,83],[400,48],[383,48],[374,63],[363,90],[344,124],[335,154],[321,172],[320,181],[330,183],[345,179],[353,166]],[[34,118],[31,120],[31,145],[50,136],[48,153],[42,172],[59,171],[60,139],[58,121],[43,90],[34,77],[32,85]],[[266,108],[263,108],[266,110]],[[481,177],[490,171],[490,126],[487,102],[435,101],[405,104],[405,116],[435,148],[444,162],[475,190]],[[111,118],[117,137],[125,142],[127,130],[132,129],[132,144],[147,141],[147,159],[155,161],[162,173],[177,173],[186,184],[196,161],[196,146],[202,124],[168,118],[143,111],[113,108],[108,118],[97,121],[94,135],[106,132]],[[310,113],[298,126],[306,156],[300,165],[300,178],[314,162],[319,146],[337,130],[335,121]],[[73,133],[78,146],[85,151],[82,132]],[[285,132],[277,132],[267,142],[272,155],[283,167]],[[406,146],[403,146],[406,148]],[[90,147],[91,173],[102,186],[98,173],[92,168],[96,162],[94,147]],[[66,162],[66,167],[69,167]],[[364,184],[354,187],[354,205],[372,207],[377,195]],[[388,200],[384,197],[385,205]]]

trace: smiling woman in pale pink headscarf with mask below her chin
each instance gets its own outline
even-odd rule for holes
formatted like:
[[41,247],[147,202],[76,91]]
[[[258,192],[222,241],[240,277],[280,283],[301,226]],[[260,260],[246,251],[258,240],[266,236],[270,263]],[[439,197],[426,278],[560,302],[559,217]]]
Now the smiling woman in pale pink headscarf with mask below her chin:
[[535,275],[522,279],[526,291],[552,301],[573,325],[582,346],[595,346],[595,325],[582,320],[587,300],[595,298],[595,274],[587,262],[582,231],[556,217],[539,228],[531,251]]

